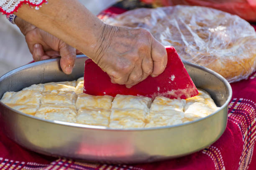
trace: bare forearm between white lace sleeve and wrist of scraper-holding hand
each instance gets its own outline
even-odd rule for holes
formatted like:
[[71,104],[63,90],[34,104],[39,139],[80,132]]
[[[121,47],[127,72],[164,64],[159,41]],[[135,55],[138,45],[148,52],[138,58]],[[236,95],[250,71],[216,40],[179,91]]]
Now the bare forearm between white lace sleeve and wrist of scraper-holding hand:
[[23,5],[16,15],[94,58],[105,24],[77,0],[48,2],[39,10]]

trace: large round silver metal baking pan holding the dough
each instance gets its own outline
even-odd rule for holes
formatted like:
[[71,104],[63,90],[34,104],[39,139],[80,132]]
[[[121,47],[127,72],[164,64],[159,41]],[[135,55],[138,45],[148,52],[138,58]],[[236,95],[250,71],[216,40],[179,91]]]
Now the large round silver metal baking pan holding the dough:
[[[64,74],[59,59],[34,62],[0,77],[0,98],[32,84],[71,81],[83,76],[84,55],[77,56],[71,75]],[[110,129],[99,126],[42,120],[15,111],[0,102],[4,133],[29,150],[77,160],[104,163],[147,163],[177,158],[201,150],[223,134],[232,89],[227,80],[205,67],[183,61],[197,88],[210,93],[220,109],[182,125],[160,128]]]

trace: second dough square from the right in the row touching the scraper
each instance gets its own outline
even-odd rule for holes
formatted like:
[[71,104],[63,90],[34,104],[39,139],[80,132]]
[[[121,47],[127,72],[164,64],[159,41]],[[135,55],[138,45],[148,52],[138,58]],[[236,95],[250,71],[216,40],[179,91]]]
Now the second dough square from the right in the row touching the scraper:
[[158,96],[155,98],[150,107],[150,112],[159,112],[163,110],[177,110],[183,112],[186,100],[169,99],[167,97]]

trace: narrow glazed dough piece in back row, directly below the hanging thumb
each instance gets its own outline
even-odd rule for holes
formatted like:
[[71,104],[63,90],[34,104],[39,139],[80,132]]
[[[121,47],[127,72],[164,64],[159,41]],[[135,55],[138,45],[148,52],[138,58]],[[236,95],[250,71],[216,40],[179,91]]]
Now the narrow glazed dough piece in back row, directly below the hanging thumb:
[[77,81],[48,82],[44,84],[44,92],[52,90],[72,91],[76,90]]

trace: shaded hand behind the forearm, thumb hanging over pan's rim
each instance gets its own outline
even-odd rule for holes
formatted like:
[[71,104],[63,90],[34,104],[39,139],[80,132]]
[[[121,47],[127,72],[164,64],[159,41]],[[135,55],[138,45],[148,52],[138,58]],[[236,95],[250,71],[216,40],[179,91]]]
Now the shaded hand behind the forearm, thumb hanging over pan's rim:
[[21,18],[15,18],[15,23],[25,35],[28,48],[35,61],[61,56],[60,65],[63,72],[66,74],[72,72],[76,53],[78,53],[75,48]]

